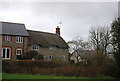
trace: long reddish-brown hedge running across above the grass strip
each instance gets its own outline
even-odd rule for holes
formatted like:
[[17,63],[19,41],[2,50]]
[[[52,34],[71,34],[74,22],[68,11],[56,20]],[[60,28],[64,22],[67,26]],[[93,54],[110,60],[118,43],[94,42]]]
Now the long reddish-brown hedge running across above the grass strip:
[[[108,66],[108,65],[107,65]],[[112,72],[111,72],[111,71]],[[95,77],[99,75],[117,76],[115,65],[82,66],[74,64],[58,64],[52,61],[3,61],[4,73],[40,74],[57,76],[84,76]],[[112,74],[113,73],[113,74]]]

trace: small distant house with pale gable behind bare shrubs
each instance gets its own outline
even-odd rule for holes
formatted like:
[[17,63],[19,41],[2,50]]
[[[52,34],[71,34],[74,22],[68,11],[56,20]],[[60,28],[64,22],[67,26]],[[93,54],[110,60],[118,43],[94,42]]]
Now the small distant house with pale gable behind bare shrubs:
[[96,54],[95,50],[80,50],[74,51],[70,56],[70,61],[73,63],[78,63],[87,59],[88,56],[94,56]]

